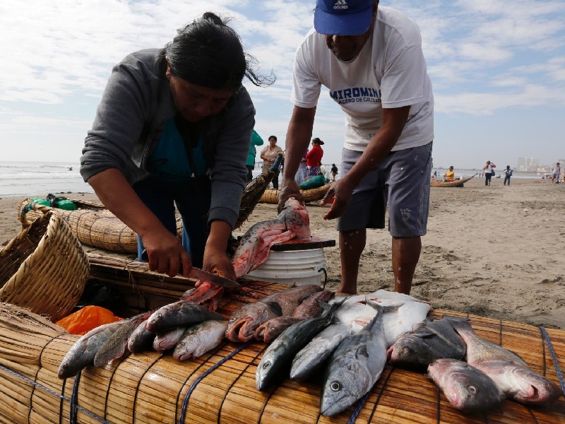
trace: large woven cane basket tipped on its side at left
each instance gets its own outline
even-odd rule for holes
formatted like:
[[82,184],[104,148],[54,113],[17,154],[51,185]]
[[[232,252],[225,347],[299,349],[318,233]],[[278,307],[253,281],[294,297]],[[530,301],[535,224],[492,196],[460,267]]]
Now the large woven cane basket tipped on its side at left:
[[[30,223],[26,210],[42,215]],[[55,322],[81,298],[88,257],[69,224],[52,208],[29,204],[18,219],[22,230],[0,250],[0,301],[28,307]]]

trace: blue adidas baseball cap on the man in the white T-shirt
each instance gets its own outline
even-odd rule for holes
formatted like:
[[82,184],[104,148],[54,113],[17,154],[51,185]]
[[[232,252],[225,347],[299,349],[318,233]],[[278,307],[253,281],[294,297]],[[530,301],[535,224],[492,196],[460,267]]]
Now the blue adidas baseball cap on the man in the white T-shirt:
[[316,0],[314,28],[320,34],[361,35],[369,29],[374,0]]

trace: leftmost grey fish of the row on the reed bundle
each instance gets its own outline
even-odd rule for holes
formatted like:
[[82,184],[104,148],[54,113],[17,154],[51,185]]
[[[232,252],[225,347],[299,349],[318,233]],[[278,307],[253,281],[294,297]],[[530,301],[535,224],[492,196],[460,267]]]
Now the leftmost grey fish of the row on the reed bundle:
[[69,352],[66,353],[63,360],[61,360],[59,370],[57,370],[57,376],[59,376],[60,379],[73,377],[83,368],[93,365],[94,357],[100,349],[100,346],[102,346],[102,344],[114,334],[114,331],[117,331],[122,325],[124,325],[123,319],[110,324],[97,326],[95,329],[88,331],[88,333],[79,338],[69,349]]

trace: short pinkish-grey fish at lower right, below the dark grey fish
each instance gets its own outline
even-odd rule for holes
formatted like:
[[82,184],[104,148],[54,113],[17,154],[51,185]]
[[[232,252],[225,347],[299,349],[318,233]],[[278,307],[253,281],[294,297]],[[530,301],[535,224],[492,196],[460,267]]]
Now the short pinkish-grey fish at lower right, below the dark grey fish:
[[449,403],[460,411],[487,411],[505,398],[492,378],[462,360],[436,359],[427,372]]

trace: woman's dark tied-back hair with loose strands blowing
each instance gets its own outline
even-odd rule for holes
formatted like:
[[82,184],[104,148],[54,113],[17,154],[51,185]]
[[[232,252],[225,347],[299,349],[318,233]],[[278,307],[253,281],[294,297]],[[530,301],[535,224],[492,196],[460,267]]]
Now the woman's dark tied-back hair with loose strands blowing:
[[174,76],[198,86],[237,91],[244,76],[256,86],[275,82],[256,74],[257,61],[244,52],[239,35],[212,12],[177,30],[165,56]]

